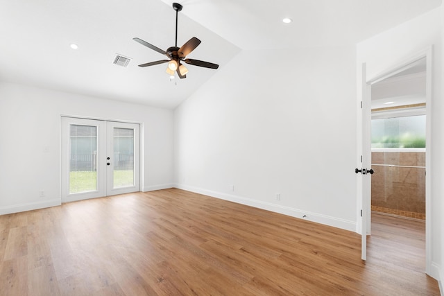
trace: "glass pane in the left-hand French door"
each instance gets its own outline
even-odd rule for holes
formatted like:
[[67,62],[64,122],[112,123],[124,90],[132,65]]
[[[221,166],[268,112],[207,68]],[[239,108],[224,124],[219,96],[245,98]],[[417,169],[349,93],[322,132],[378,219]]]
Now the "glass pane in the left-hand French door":
[[97,190],[97,127],[69,128],[69,194]]

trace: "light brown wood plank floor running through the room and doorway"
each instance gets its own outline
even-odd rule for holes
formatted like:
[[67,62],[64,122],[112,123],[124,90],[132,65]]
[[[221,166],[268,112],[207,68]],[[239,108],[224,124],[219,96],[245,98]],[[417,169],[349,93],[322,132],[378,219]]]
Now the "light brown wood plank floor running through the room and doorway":
[[[388,226],[387,226],[388,225]],[[0,216],[0,295],[439,295],[424,223],[360,236],[179,189]]]

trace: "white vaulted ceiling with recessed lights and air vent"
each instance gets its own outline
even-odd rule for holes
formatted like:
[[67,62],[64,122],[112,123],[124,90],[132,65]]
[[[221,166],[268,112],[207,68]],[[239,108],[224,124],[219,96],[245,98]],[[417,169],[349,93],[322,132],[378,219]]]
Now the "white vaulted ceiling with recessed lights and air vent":
[[[170,82],[166,64],[137,64],[174,45],[176,12],[169,0],[0,0],[0,80],[64,92],[173,108],[203,85],[240,50],[343,46],[401,24],[441,5],[441,0],[183,0],[178,46],[202,43],[189,58],[219,70],[187,66],[185,80]],[[282,18],[293,19],[283,24]],[[79,49],[70,49],[76,43]],[[116,53],[132,58],[112,64]],[[267,61],[261,61],[267,62]],[[177,84],[176,84],[177,82]]]

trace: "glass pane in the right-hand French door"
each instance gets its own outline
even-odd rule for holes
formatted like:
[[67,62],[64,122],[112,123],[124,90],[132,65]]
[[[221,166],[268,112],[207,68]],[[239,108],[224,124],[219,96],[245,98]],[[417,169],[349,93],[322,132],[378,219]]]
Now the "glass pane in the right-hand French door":
[[134,186],[134,130],[113,128],[113,188]]

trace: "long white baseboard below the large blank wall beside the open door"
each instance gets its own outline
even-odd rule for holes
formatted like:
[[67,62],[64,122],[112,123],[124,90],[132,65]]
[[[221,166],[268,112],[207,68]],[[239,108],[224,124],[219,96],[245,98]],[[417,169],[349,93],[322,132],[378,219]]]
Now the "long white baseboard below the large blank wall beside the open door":
[[313,213],[313,212],[309,212],[309,211],[302,211],[300,209],[286,207],[286,206],[282,206],[280,204],[273,204],[271,202],[263,202],[260,200],[253,200],[252,198],[244,198],[244,197],[237,196],[237,195],[231,195],[231,194],[227,194],[227,193],[210,191],[207,189],[200,189],[200,188],[193,187],[193,186],[187,186],[185,184],[175,184],[174,187],[176,187],[178,189],[183,189],[186,191],[191,191],[194,193],[208,195],[213,198],[220,198],[222,200],[228,200],[230,202],[237,202],[239,204],[245,204],[250,207],[265,209],[267,211],[274,211],[275,213],[284,214],[287,216],[302,218],[305,220],[309,220],[311,222],[321,223],[323,225],[329,225],[332,227],[345,229],[350,232],[356,232],[355,221],[345,220],[345,219],[327,216],[327,215],[323,215],[323,214],[317,214],[317,213]]

